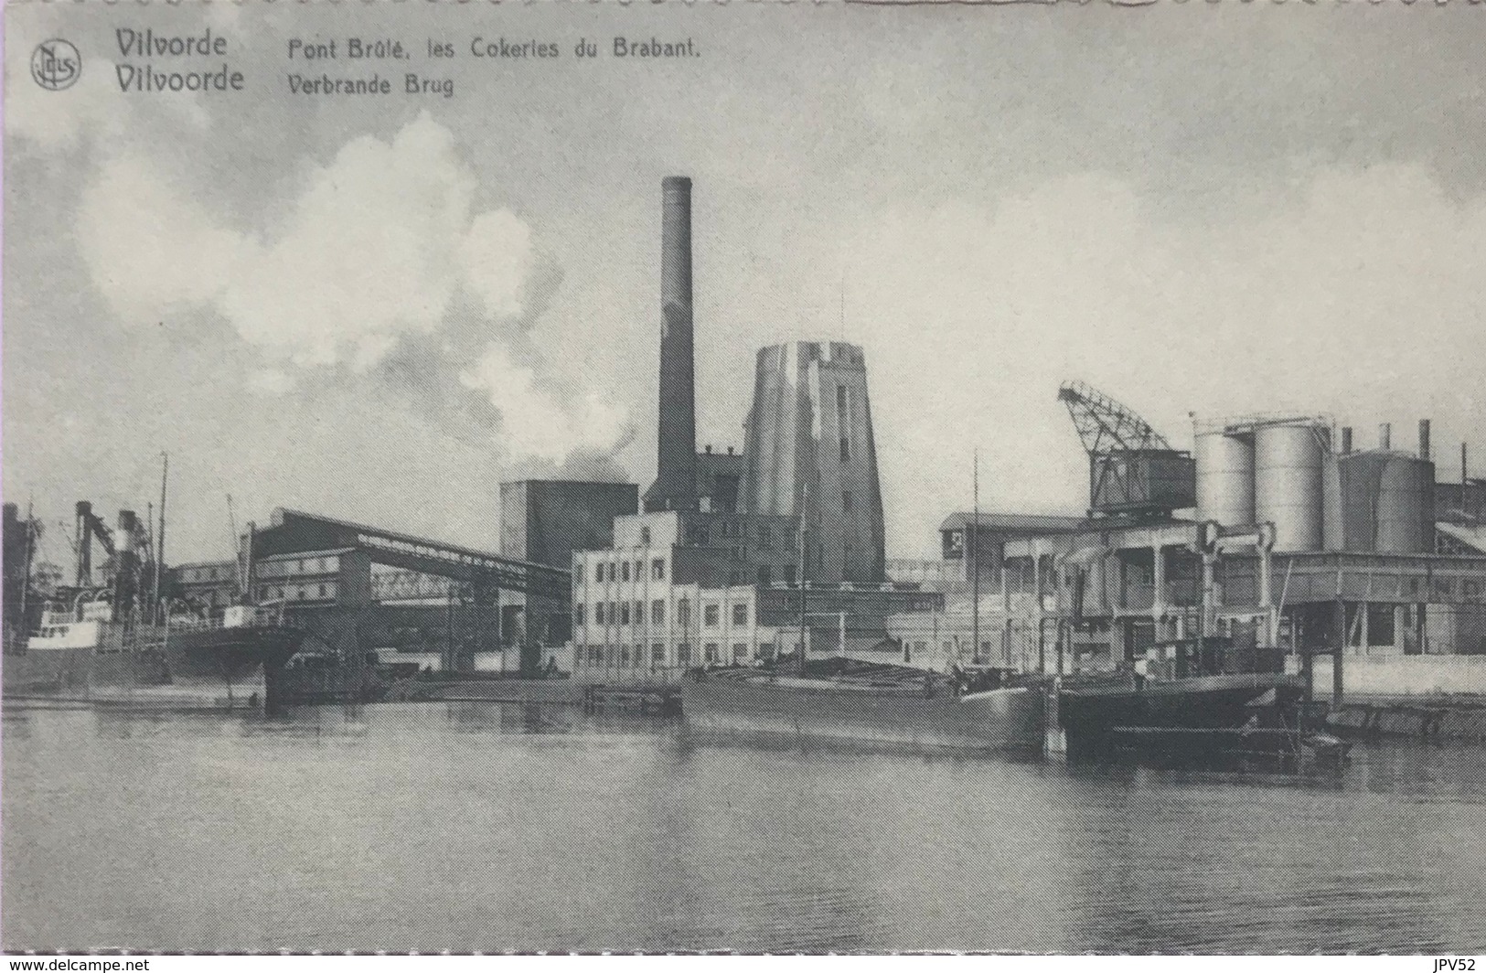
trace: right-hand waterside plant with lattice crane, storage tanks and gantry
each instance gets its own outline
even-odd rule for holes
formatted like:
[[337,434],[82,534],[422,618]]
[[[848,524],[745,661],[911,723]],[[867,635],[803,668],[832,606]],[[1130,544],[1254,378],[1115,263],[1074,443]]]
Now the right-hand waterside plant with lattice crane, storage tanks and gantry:
[[[1060,398],[1089,455],[1086,515],[951,514],[938,567],[895,563],[948,596],[941,615],[890,619],[898,642],[1070,673],[1221,639],[1352,692],[1486,691],[1486,667],[1450,661],[1486,655],[1480,481],[1464,465],[1461,483],[1435,481],[1428,422],[1413,452],[1389,426],[1354,449],[1324,416],[1198,422],[1189,462],[1088,386]],[[978,602],[972,542],[996,564]]]

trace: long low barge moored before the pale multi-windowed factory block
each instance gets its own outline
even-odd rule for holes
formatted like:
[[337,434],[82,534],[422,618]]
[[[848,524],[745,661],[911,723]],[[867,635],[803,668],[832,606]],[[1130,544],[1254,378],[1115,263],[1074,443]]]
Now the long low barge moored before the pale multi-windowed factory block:
[[694,670],[679,695],[685,726],[709,740],[914,753],[1034,755],[1043,746],[1039,688],[963,692],[944,676],[881,663],[820,660],[802,674]]

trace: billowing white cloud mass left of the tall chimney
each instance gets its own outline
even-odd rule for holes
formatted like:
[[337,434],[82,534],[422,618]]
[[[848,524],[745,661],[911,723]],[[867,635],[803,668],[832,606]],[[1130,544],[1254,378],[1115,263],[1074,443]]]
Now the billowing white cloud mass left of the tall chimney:
[[492,318],[481,340],[496,340],[459,362],[458,382],[501,410],[505,449],[553,462],[609,450],[627,432],[621,409],[553,391],[563,388],[553,362],[517,365],[501,343],[528,343],[536,250],[516,214],[474,212],[476,189],[453,135],[425,113],[389,143],[346,143],[262,235],[226,226],[143,156],[110,157],[83,190],[77,238],[125,324],[215,310],[265,352],[267,367],[245,379],[265,395],[285,394],[294,367],[367,373],[407,336],[441,333],[458,357],[446,315],[465,293]]

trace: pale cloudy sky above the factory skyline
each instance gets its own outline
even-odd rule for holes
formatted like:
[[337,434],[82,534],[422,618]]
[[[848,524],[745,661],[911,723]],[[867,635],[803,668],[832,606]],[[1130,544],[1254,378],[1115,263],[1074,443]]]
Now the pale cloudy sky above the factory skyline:
[[[1468,4],[10,4],[3,493],[158,502],[171,562],[275,507],[498,547],[499,481],[654,475],[660,183],[692,178],[698,446],[753,355],[863,346],[890,557],[1082,511],[1082,379],[1330,414],[1486,472],[1486,80]],[[120,94],[116,30],[244,92]],[[700,56],[578,59],[580,39]],[[409,62],[287,58],[400,39]],[[477,59],[474,37],[556,59]],[[28,76],[64,37],[85,70]],[[429,40],[456,56],[431,61]],[[343,49],[343,46],[342,46]],[[217,61],[221,61],[218,58]],[[205,62],[202,62],[205,64]],[[172,67],[156,62],[156,67]],[[212,64],[215,67],[215,64]],[[293,71],[455,83],[290,94]],[[232,498],[232,518],[227,496]]]

